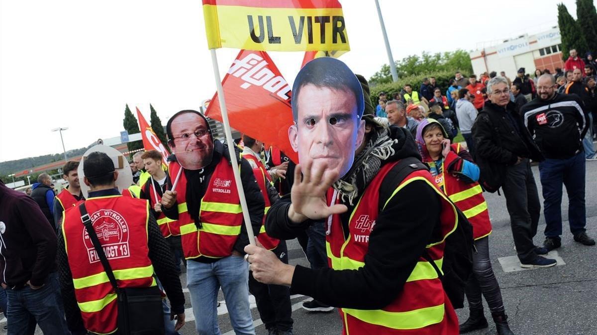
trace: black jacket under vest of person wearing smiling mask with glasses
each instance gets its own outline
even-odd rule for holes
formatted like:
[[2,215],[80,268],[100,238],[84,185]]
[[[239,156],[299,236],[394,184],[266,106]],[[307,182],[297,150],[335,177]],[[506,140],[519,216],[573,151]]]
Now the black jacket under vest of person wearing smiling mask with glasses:
[[[236,148],[235,148],[236,150]],[[176,159],[176,156],[170,155],[171,159]],[[246,159],[241,158],[238,160],[239,151],[236,151],[236,160],[237,162],[241,163],[241,181],[242,187],[245,191],[245,199],[247,200],[247,207],[249,210],[249,216],[251,217],[251,226],[253,227],[253,234],[257,236],[259,234],[259,230],[261,229],[261,221],[263,220],[263,212],[265,210],[265,201],[263,200],[263,195],[261,194],[261,188],[259,188],[259,184],[255,179],[255,175],[253,175],[253,168]],[[169,158],[170,159],[170,158]],[[230,154],[228,153],[227,145],[223,145],[217,139],[214,139],[214,156],[211,160],[210,165],[206,166],[201,170],[187,170],[184,169],[184,175],[187,178],[187,206],[189,207],[189,213],[193,216],[194,210],[199,211],[199,207],[201,207],[201,198],[205,195],[205,190],[207,189],[207,182],[202,181],[209,181],[211,179],[211,175],[216,169],[220,160],[226,159],[228,163],[232,160],[230,159]],[[196,183],[193,183],[192,179],[195,179]],[[196,185],[193,188],[193,185]],[[172,189],[172,185],[168,185],[168,189]],[[192,197],[192,199],[190,198]],[[162,206],[162,211],[164,214],[173,220],[177,220],[179,218],[179,212],[177,209],[177,204],[175,203],[174,206],[170,207],[170,209],[166,209]],[[199,218],[200,219],[200,218]],[[245,228],[244,220],[241,226],[241,234],[238,235],[238,239],[233,246],[233,249],[237,252],[241,253],[242,255],[245,254],[245,246],[249,244],[249,237],[247,235],[247,228]],[[205,256],[201,256],[198,258],[193,258],[192,260],[196,260],[197,262],[202,263],[213,263],[219,260],[219,258],[208,258]]]

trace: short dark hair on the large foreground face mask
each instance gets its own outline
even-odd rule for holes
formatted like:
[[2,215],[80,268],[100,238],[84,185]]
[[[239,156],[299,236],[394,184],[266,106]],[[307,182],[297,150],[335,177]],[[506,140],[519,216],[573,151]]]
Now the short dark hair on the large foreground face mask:
[[352,92],[355,95],[357,119],[360,120],[363,116],[365,100],[361,82],[342,61],[332,57],[319,57],[305,64],[298,72],[294,79],[291,99],[294,122],[298,119],[298,97],[301,89],[306,85]]

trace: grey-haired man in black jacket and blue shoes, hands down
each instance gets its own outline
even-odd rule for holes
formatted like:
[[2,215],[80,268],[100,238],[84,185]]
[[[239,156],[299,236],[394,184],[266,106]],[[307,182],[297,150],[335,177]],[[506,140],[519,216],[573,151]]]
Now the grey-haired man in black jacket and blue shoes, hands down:
[[[504,77],[492,78],[487,85],[487,92],[490,101],[485,104],[472,129],[475,155],[491,165],[497,165],[502,172],[501,188],[506,197],[512,237],[521,266],[554,266],[555,260],[540,256],[547,255],[547,250],[533,244],[541,204],[529,159],[540,161],[543,155],[522,123],[522,118],[516,114],[514,103],[510,102],[507,80]],[[483,165],[479,167],[484,169]]]

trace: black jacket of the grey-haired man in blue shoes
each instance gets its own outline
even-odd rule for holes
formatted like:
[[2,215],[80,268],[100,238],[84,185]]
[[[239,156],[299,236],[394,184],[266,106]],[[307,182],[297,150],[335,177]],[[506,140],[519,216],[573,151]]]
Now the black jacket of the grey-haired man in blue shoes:
[[485,103],[472,128],[475,158],[479,156],[502,166],[514,165],[518,157],[536,162],[543,160],[537,144],[522,123],[522,117],[516,114],[514,103],[510,102],[506,107],[504,109],[490,101]]

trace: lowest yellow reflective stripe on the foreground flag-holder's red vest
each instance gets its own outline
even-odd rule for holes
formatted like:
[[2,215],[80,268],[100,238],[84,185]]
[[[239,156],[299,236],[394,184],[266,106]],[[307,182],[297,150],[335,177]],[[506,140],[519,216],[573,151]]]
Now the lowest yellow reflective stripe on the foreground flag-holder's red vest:
[[408,312],[364,311],[362,309],[343,308],[343,312],[367,322],[368,324],[383,325],[393,329],[418,329],[428,325],[438,324],[444,320],[444,304],[427,308],[415,309]]

